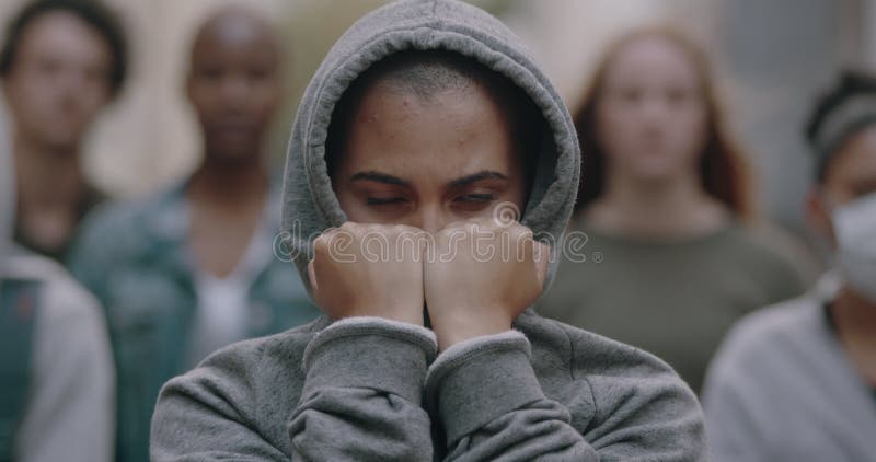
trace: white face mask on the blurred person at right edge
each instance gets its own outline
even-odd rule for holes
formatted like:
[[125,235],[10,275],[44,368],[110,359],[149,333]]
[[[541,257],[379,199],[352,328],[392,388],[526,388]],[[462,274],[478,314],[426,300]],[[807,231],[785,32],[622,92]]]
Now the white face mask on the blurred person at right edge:
[[833,210],[837,266],[849,288],[876,303],[876,193]]

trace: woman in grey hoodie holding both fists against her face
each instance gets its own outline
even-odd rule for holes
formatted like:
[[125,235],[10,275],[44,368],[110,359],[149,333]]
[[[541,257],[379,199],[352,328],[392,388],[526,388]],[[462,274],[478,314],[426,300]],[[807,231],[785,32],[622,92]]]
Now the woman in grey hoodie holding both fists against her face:
[[152,459],[703,460],[670,367],[527,308],[579,164],[565,106],[494,18],[407,0],[359,20],[286,165],[278,242],[325,315],[170,381]]

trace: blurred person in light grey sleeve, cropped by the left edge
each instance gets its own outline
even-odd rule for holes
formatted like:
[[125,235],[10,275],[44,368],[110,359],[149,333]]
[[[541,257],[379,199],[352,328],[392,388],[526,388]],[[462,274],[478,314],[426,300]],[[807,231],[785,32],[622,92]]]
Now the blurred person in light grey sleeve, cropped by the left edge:
[[0,149],[0,461],[108,462],[114,376],[101,310],[55,262],[14,245]]

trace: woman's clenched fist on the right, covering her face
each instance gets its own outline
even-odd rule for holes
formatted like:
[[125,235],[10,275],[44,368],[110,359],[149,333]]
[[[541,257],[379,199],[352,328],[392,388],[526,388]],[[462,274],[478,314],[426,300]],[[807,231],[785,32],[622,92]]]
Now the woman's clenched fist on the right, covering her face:
[[438,347],[511,328],[542,292],[550,249],[518,222],[454,223],[424,259],[426,305]]

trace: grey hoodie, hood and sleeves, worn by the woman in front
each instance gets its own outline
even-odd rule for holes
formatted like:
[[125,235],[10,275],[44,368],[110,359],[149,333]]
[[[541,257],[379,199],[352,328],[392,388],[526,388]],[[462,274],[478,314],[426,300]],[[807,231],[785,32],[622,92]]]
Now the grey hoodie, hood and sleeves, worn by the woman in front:
[[[568,220],[579,170],[575,130],[518,39],[458,1],[400,1],[344,34],[299,107],[283,221],[301,236],[291,251],[306,282],[307,236],[346,220],[323,159],[334,105],[369,66],[405,49],[462,54],[526,91],[553,136],[543,143],[522,222],[537,235],[560,235]],[[705,458],[700,405],[666,363],[531,310],[514,327],[437,355],[426,328],[323,316],[232,345],[164,386],[152,419],[152,459]]]

